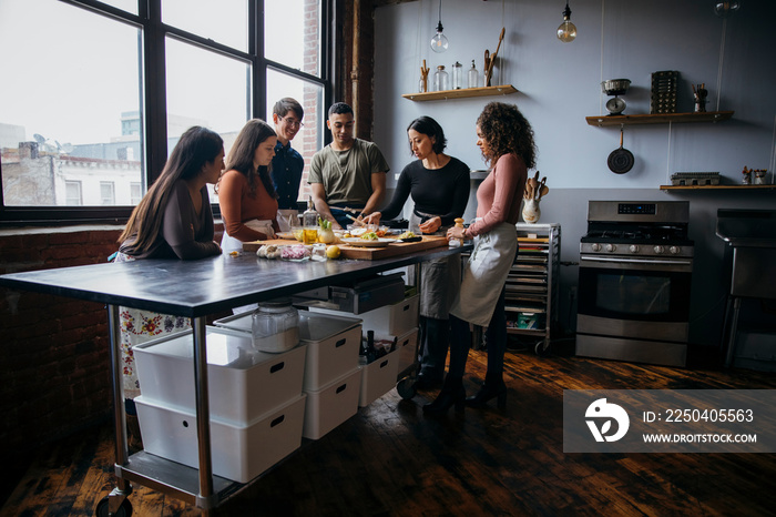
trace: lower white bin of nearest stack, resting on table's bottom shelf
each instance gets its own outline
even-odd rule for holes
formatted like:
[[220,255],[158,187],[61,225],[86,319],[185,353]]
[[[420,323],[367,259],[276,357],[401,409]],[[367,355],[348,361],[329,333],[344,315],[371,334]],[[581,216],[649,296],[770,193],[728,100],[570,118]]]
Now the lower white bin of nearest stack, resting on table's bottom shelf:
[[[247,483],[302,445],[306,395],[241,426],[211,418],[213,474]],[[194,412],[135,398],[146,453],[200,468]]]

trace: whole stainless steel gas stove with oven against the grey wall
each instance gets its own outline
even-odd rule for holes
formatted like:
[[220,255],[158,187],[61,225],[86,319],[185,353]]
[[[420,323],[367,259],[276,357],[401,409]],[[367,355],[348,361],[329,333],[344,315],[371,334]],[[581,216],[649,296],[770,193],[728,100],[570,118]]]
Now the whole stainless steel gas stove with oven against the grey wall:
[[685,201],[591,201],[580,241],[576,354],[683,366],[693,241]]

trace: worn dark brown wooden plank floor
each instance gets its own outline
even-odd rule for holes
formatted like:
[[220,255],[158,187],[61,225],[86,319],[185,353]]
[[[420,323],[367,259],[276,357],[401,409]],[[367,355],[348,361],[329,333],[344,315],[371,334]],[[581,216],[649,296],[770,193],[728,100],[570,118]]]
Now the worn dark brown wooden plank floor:
[[[476,389],[484,354],[470,354]],[[507,408],[426,418],[391,391],[223,503],[225,516],[776,515],[774,454],[564,454],[563,389],[776,388],[773,374],[510,352]],[[112,429],[41,447],[0,516],[84,516],[113,487]],[[8,468],[8,466],[6,467]],[[201,511],[135,487],[135,516]]]

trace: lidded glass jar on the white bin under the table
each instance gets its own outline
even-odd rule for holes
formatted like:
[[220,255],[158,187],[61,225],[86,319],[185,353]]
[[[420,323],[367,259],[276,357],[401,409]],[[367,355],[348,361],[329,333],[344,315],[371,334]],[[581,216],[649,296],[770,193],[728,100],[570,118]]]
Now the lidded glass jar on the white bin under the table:
[[253,346],[261,352],[286,352],[299,343],[299,312],[290,298],[262,302],[253,313]]

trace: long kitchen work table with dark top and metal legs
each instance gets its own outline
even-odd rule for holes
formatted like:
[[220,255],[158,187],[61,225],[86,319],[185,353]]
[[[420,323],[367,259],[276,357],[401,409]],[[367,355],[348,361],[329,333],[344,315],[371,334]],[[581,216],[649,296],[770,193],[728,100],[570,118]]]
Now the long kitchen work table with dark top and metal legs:
[[[198,261],[145,260],[11,273],[0,275],[0,285],[106,304],[118,486],[103,500],[102,508],[99,507],[99,515],[103,515],[103,510],[104,515],[131,513],[126,499],[132,491],[131,483],[195,505],[206,515],[245,485],[213,476],[212,473],[205,316],[248,303],[417,265],[470,247],[437,247],[376,261],[295,263],[258,258],[253,253]],[[145,452],[129,455],[119,351],[120,305],[192,318],[200,469]]]

